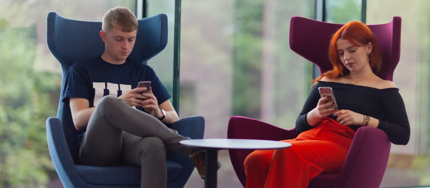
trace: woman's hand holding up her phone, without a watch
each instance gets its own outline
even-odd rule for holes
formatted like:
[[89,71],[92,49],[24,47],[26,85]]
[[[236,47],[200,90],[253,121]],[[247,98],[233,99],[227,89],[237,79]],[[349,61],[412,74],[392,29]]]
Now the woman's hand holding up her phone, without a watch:
[[316,107],[307,114],[306,121],[310,126],[315,126],[322,118],[325,118],[338,110],[337,107],[329,107],[335,106],[335,102],[324,103],[327,100],[331,100],[331,98],[320,98]]

